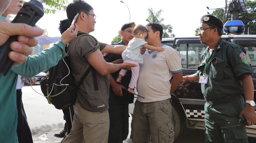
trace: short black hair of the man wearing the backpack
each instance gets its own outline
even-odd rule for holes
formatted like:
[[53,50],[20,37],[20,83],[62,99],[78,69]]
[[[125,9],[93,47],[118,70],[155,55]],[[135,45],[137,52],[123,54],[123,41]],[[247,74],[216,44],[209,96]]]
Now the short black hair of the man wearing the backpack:
[[68,4],[66,8],[67,17],[69,22],[72,22],[77,13],[86,12],[89,13],[93,10],[92,6],[83,0],[73,0],[72,3]]

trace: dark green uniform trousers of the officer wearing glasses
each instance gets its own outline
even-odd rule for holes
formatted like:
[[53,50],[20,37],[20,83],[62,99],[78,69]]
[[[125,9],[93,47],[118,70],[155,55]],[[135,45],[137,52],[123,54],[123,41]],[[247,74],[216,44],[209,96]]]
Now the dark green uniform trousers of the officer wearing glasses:
[[239,125],[239,115],[244,109],[244,98],[228,103],[204,105],[206,143],[248,143],[245,125]]

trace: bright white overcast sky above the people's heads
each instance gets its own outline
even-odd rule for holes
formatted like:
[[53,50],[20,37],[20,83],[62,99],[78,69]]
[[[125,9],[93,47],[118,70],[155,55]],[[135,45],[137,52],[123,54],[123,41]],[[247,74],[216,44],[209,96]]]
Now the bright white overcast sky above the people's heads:
[[[68,0],[72,2],[72,0]],[[155,12],[162,10],[161,18],[164,24],[171,24],[175,37],[195,36],[195,30],[199,26],[200,18],[212,13],[210,9],[224,8],[225,0],[85,0],[94,9],[97,16],[95,31],[91,32],[100,42],[108,43],[118,35],[124,23],[131,22],[146,25],[148,22],[148,9]],[[55,14],[45,14],[36,25],[46,29],[49,37],[59,37],[59,22],[67,18],[65,11]]]

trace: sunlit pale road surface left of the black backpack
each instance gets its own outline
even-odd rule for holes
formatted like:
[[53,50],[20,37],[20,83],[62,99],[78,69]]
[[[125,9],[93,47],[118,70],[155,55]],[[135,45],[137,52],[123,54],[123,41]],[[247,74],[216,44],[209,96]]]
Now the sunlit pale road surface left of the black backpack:
[[[42,94],[39,83],[32,87]],[[40,135],[45,134],[48,141],[58,143],[61,139],[53,135],[64,128],[63,112],[56,109],[52,104],[48,104],[46,98],[37,94],[33,89],[30,86],[24,86],[21,89],[23,106],[32,137],[39,138]]]

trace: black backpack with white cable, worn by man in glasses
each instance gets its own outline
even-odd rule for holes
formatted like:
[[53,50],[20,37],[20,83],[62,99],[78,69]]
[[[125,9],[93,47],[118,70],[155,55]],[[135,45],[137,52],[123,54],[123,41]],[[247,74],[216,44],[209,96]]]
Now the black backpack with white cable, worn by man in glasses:
[[[82,32],[77,33],[77,37],[83,35],[89,34]],[[65,52],[68,53],[67,46],[65,47]],[[94,89],[98,89],[95,69],[91,65],[86,70],[82,79],[76,85],[74,77],[71,74],[69,64],[68,56],[62,58],[56,66],[48,69],[46,76],[42,78],[40,83],[41,90],[44,96],[47,98],[48,103],[53,104],[57,109],[66,109],[75,104],[77,90],[90,71],[92,71]]]

